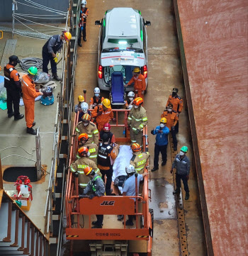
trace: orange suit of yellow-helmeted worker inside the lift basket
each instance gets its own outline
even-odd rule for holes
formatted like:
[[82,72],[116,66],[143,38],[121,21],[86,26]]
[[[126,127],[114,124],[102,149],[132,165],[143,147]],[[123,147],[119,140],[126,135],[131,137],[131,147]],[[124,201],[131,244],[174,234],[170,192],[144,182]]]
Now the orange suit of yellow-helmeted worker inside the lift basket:
[[[97,113],[101,112],[100,116],[97,116]],[[103,106],[96,106],[91,112],[92,118],[96,118],[97,129],[99,132],[103,130],[105,123],[109,123],[109,119],[113,119],[112,108],[108,108],[106,111],[103,111]]]

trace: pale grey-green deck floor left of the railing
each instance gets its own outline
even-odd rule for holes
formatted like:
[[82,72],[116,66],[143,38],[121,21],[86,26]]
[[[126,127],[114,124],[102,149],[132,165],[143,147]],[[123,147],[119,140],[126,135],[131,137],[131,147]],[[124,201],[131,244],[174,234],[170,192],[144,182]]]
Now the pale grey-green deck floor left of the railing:
[[[6,24],[4,24],[6,26]],[[4,33],[4,39],[0,40],[0,57],[4,52],[4,47],[7,39],[11,39],[11,34]],[[41,57],[41,50],[45,44],[45,40],[30,39],[15,35],[13,39],[17,39],[15,55],[18,55],[19,59],[23,57]],[[18,66],[16,66],[18,67]],[[17,69],[19,72],[23,70],[19,67]],[[60,74],[60,69],[58,70]],[[3,75],[3,72],[1,73]],[[43,106],[40,101],[35,102],[35,122],[36,126],[34,128],[40,127],[41,133],[41,159],[42,165],[47,165],[47,171],[50,172],[51,158],[52,158],[52,138],[53,138],[53,128],[55,124],[56,107],[57,107],[57,93],[60,91],[60,83],[57,82],[57,88],[54,91],[55,104],[51,106]],[[24,113],[24,106],[20,106],[20,113]],[[23,157],[28,157],[31,160],[26,160],[21,157],[6,157],[1,161],[4,165],[16,165],[16,166],[26,166],[35,165],[32,160],[36,159],[35,151],[35,136],[26,133],[26,122],[25,118],[14,121],[13,118],[7,117],[7,110],[2,111],[0,109],[0,153],[1,159],[7,155],[22,155]],[[52,133],[51,133],[52,132]],[[21,148],[11,148],[7,150],[2,150],[10,146],[21,146],[25,148],[31,154],[28,155]],[[45,200],[47,196],[47,186],[50,174],[45,177],[45,182],[41,184],[32,183],[33,186],[33,201],[30,207],[30,211],[26,211],[28,217],[35,223],[40,230],[44,231],[45,218],[43,214],[45,211]],[[21,174],[20,174],[21,175]],[[13,184],[4,183],[4,189],[13,190],[15,187]]]

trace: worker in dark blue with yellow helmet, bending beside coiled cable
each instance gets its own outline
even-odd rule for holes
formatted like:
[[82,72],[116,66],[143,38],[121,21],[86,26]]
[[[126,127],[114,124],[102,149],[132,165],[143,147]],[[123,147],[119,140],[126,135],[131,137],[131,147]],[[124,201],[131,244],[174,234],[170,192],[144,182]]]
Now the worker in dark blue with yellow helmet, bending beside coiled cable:
[[43,46],[43,72],[48,74],[48,63],[51,63],[52,68],[52,76],[55,80],[60,81],[60,78],[57,76],[57,63],[56,60],[56,53],[60,52],[63,43],[66,41],[71,40],[72,35],[69,32],[62,32],[61,35],[52,35],[47,43]]

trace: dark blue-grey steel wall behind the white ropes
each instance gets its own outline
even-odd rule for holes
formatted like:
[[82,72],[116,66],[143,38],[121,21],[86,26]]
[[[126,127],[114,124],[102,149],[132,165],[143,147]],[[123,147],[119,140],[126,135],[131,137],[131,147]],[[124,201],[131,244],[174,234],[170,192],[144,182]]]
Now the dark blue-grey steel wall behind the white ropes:
[[[23,4],[28,4],[28,2],[24,0],[16,0]],[[69,8],[69,0],[33,0],[38,4],[42,4],[44,6],[49,6],[52,9],[67,11]],[[11,22],[12,21],[12,0],[0,0],[0,22]],[[42,11],[40,9],[31,8],[29,6],[24,6],[23,4],[18,4],[17,13],[32,13],[32,14],[52,14],[52,12]],[[32,21],[35,21],[32,19]],[[38,20],[37,20],[38,21]],[[39,20],[40,21],[40,20]],[[60,19],[48,20],[43,19],[42,23],[53,23],[61,21]],[[65,20],[62,20],[65,21]]]

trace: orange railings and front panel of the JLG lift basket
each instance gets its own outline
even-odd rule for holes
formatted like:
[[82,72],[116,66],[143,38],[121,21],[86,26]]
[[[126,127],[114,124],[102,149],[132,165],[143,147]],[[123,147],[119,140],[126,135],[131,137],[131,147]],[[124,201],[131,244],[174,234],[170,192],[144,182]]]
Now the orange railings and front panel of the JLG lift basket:
[[[124,110],[124,109],[113,109],[114,116],[116,118],[116,124],[113,126],[117,127],[125,127],[128,128],[128,112],[129,110]],[[120,123],[118,119],[118,113],[124,112],[124,122]],[[76,114],[75,119],[74,119],[74,126],[73,130],[75,130],[78,122],[78,114]],[[123,140],[124,139],[124,140]],[[116,138],[116,141],[119,142],[129,142],[130,143],[130,138]],[[77,153],[77,137],[76,135],[72,136],[71,140],[71,150],[69,152],[69,166],[72,164],[74,160],[76,160],[76,153]],[[148,139],[147,139],[147,126],[143,129],[143,148],[145,149],[144,151],[148,151]],[[148,161],[147,161],[148,165]],[[145,168],[145,172],[148,172],[147,167]],[[133,204],[133,208],[130,207],[131,210],[127,210],[125,207],[123,209],[120,208],[120,205],[126,206],[127,204],[133,203],[133,199],[131,199],[131,196],[101,196],[101,198],[96,198],[94,200],[89,201],[89,199],[80,199],[79,198],[79,189],[78,189],[78,178],[74,177],[72,172],[69,171],[68,169],[68,174],[67,174],[67,189],[66,189],[66,195],[65,195],[65,206],[66,206],[66,213],[67,213],[67,239],[103,239],[102,237],[98,237],[97,232],[94,230],[91,230],[91,228],[81,228],[79,225],[79,216],[80,215],[94,215],[98,214],[98,209],[99,209],[99,204],[109,201],[114,201],[116,203],[111,205],[112,211],[106,211],[106,208],[109,208],[108,206],[105,206],[101,208],[101,211],[99,211],[99,214],[120,214],[120,215],[135,215],[135,216],[143,216],[144,219],[144,227],[143,228],[138,228],[137,227],[137,221],[136,221],[136,228],[133,232],[132,235],[132,240],[149,240],[149,234],[151,233],[152,230],[152,225],[151,225],[151,219],[149,218],[149,189],[148,189],[148,177],[145,176],[144,179],[144,186],[143,186],[143,193],[142,196],[133,196],[137,198],[137,207],[138,205],[142,204],[142,211],[138,212],[137,210],[134,210],[135,204]],[[100,202],[100,201],[101,202]],[[90,205],[89,205],[90,204]],[[104,204],[104,203],[103,203]],[[108,203],[106,203],[108,204]],[[85,210],[87,209],[87,211]],[[101,213],[100,213],[101,212]],[[73,225],[72,218],[74,216],[77,216],[77,226]],[[90,219],[90,218],[89,218]],[[125,219],[124,219],[125,220]],[[91,222],[91,221],[89,221]],[[123,231],[124,230],[124,231]],[[120,230],[114,230],[114,229],[106,229],[104,228],[104,231],[106,233],[111,233],[117,232],[118,234],[120,233],[121,235],[119,236],[114,236],[111,235],[111,238],[109,239],[115,239],[115,240],[122,240],[122,239],[128,239],[130,240],[130,232],[125,231],[127,230],[125,225],[123,229]],[[130,229],[128,229],[130,230]],[[89,235],[89,233],[91,235]]]

